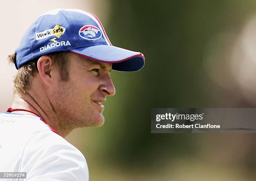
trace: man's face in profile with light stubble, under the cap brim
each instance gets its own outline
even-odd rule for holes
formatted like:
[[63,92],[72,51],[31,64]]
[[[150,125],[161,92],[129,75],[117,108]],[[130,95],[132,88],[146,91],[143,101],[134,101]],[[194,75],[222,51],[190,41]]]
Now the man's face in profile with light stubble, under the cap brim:
[[104,123],[102,103],[106,96],[115,94],[109,75],[112,64],[71,53],[68,69],[69,80],[59,79],[52,92],[52,105],[59,121],[72,128],[101,126]]

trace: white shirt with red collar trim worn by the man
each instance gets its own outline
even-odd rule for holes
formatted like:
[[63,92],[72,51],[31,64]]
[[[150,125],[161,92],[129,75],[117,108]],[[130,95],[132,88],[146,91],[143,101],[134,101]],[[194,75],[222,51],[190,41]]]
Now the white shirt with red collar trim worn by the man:
[[83,154],[33,115],[0,113],[0,172],[26,172],[26,179],[88,181]]

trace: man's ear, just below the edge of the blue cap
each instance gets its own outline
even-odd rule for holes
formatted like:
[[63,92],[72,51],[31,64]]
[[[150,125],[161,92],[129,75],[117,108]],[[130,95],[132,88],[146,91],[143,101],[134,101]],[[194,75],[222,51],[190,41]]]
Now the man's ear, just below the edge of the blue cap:
[[38,73],[47,86],[53,85],[54,62],[48,55],[41,56],[37,61]]

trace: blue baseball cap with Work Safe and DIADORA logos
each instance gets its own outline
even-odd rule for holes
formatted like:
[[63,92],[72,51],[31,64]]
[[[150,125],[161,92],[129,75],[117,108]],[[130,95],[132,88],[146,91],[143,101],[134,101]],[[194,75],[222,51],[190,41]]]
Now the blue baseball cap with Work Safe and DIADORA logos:
[[54,9],[39,16],[28,28],[15,50],[15,67],[19,69],[39,56],[70,51],[91,60],[113,63],[112,69],[136,71],[145,58],[113,46],[100,20],[92,13],[78,9]]

